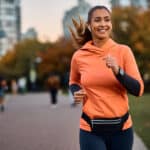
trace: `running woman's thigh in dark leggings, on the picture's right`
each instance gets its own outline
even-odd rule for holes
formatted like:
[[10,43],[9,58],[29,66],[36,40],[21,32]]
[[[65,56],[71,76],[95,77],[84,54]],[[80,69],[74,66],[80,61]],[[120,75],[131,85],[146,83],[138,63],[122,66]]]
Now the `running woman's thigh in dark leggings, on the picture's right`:
[[111,150],[132,150],[133,146],[133,129],[125,131],[111,137]]

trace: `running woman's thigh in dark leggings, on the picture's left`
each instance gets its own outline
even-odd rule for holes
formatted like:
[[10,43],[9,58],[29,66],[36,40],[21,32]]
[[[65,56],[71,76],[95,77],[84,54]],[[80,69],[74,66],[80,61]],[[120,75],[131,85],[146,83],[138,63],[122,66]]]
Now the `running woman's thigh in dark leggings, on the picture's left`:
[[80,130],[80,150],[106,150],[102,137]]

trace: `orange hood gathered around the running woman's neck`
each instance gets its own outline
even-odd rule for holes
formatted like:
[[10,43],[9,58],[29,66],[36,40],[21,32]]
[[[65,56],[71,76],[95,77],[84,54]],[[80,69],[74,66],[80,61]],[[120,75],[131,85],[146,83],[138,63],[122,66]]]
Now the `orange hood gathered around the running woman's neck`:
[[104,56],[109,52],[109,50],[112,47],[116,45],[117,43],[113,41],[111,38],[108,39],[107,42],[101,48],[95,46],[92,41],[88,41],[80,48],[80,50],[86,50],[88,52],[98,54],[99,56]]

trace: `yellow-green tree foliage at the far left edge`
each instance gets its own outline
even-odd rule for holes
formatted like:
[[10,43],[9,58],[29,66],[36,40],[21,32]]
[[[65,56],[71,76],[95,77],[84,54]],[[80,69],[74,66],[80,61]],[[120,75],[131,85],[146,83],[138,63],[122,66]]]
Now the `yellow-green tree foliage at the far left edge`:
[[25,40],[14,46],[0,60],[0,72],[7,79],[27,75],[42,46],[37,40]]

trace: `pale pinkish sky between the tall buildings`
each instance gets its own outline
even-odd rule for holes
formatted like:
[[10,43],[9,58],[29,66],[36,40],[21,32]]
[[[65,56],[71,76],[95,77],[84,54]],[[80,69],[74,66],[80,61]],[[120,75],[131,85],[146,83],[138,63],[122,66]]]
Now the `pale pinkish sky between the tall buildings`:
[[[105,5],[109,0],[85,0],[91,6]],[[41,41],[55,41],[63,35],[64,12],[76,6],[78,0],[21,0],[21,28],[35,28]]]

